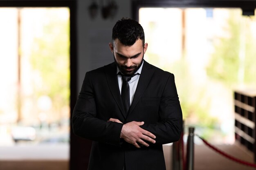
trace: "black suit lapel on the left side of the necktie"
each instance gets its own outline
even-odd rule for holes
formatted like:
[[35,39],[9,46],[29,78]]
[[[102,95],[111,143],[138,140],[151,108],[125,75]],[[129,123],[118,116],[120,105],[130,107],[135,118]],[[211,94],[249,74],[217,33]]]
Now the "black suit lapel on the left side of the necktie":
[[126,118],[124,106],[123,106],[120,91],[119,91],[118,81],[117,81],[117,66],[113,62],[107,66],[104,66],[104,68],[105,68],[105,74],[108,82],[108,87],[110,88],[113,98],[115,99],[119,109],[121,110],[121,114],[124,116],[124,118]]

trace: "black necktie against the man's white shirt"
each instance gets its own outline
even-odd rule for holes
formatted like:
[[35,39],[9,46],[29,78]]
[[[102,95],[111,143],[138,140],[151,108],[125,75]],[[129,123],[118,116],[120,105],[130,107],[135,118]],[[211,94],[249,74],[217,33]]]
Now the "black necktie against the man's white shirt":
[[138,75],[139,73],[137,74],[134,74],[134,75],[131,75],[131,76],[125,76],[125,75],[122,75],[122,79],[123,79],[123,84],[122,84],[122,88],[121,88],[121,98],[122,98],[122,101],[123,101],[123,104],[124,104],[124,110],[126,112],[126,114],[128,113],[128,110],[130,108],[130,86],[128,84],[128,82],[131,80],[131,78],[135,75]]

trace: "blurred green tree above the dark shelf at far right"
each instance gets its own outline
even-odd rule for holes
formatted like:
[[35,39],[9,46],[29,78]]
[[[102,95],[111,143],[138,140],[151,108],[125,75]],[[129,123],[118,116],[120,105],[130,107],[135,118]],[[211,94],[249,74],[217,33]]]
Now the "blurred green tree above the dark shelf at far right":
[[252,36],[255,17],[242,16],[240,10],[229,11],[227,25],[223,28],[227,36],[216,37],[214,53],[207,67],[207,75],[225,83],[255,84],[256,39]]

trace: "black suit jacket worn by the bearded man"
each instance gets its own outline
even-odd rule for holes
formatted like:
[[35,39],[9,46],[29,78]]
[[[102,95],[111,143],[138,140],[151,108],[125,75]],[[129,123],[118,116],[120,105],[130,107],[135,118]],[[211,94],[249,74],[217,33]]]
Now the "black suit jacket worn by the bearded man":
[[[85,75],[72,116],[74,133],[93,140],[88,170],[165,170],[162,144],[177,141],[182,132],[182,110],[174,75],[144,61],[136,92],[125,115],[113,62]],[[123,124],[144,121],[141,128],[156,143],[136,148],[120,139]]]

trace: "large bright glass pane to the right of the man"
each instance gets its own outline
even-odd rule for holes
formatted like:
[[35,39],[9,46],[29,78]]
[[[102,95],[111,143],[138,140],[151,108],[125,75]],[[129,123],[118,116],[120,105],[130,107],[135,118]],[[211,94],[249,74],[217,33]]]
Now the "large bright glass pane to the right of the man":
[[141,8],[139,22],[145,60],[175,75],[185,124],[212,142],[233,143],[234,89],[256,86],[256,17],[240,9]]

